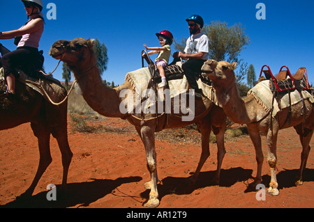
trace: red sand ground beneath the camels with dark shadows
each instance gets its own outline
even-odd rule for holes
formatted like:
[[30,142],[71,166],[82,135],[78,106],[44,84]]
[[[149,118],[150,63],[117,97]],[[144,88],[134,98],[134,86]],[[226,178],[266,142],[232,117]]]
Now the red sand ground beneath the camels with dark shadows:
[[[70,120],[69,120],[70,122]],[[57,141],[51,138],[52,164],[36,187],[33,197],[16,200],[31,184],[39,155],[37,140],[29,124],[1,131],[0,141],[0,207],[143,207],[149,196],[144,182],[149,181],[144,146],[135,129],[124,120],[105,118],[103,124],[126,127],[126,133],[82,134],[69,128],[73,161],[68,175],[68,192],[59,195],[62,165]],[[269,187],[270,173],[267,148],[263,139],[263,183]],[[225,143],[220,186],[211,184],[216,170],[216,144],[211,144],[211,157],[202,168],[195,187],[184,182],[200,157],[200,144],[156,141],[159,207],[314,207],[314,154],[308,157],[304,184],[296,187],[301,144],[293,128],[278,135],[277,175],[279,196],[266,195],[257,201],[256,192],[247,192],[256,174],[255,151],[248,136]],[[312,139],[311,146],[314,146]],[[47,201],[46,187],[57,184],[57,201]]]

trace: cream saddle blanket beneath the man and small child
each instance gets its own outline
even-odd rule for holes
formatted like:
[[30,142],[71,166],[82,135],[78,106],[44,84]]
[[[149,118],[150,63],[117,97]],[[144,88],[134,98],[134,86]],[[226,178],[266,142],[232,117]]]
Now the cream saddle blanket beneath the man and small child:
[[[132,84],[133,88],[137,92],[137,94],[142,93],[143,96],[145,90],[149,85],[149,81],[151,80],[151,73],[149,72],[149,68],[140,68],[139,70],[135,70],[133,72],[128,72],[126,74],[126,81],[129,81]],[[181,93],[188,93],[188,81],[184,76],[183,79],[173,79],[168,81],[168,86],[170,89],[170,97],[176,97]],[[218,101],[216,100],[216,91],[212,86],[208,86],[204,84],[201,79],[197,80],[198,87],[202,89],[204,95],[214,102],[217,106],[222,107]]]

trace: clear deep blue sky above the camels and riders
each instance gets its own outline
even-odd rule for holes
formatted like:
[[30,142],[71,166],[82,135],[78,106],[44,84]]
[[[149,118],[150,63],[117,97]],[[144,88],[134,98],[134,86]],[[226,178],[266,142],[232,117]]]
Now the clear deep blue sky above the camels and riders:
[[[57,6],[57,19],[47,19],[48,3]],[[259,10],[257,3],[266,6],[266,19],[255,17]],[[245,27],[251,44],[241,51],[240,58],[254,65],[257,76],[265,64],[274,74],[282,65],[287,65],[292,73],[305,66],[309,81],[314,84],[313,0],[43,0],[43,4],[46,24],[40,49],[44,51],[46,72],[54,70],[58,62],[48,54],[56,40],[98,38],[105,43],[109,58],[103,79],[121,85],[127,72],[141,68],[140,53],[144,43],[150,47],[159,46],[155,33],[165,29],[171,31],[177,41],[187,38],[185,19],[198,14],[205,24],[219,20],[227,22],[228,26],[241,23]],[[0,31],[18,29],[27,21],[19,0],[1,0],[0,8]],[[13,40],[0,42],[10,50],[15,49]],[[54,72],[54,77],[60,81],[63,80],[61,72],[60,65]]]

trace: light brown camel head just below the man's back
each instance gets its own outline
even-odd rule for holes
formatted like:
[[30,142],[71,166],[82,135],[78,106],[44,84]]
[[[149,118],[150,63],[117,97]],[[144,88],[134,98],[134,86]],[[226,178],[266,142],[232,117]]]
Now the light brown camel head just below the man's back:
[[233,85],[236,81],[234,70],[237,68],[237,63],[228,63],[226,61],[214,61],[209,59],[202,66],[202,75],[211,79],[214,88],[225,88]]

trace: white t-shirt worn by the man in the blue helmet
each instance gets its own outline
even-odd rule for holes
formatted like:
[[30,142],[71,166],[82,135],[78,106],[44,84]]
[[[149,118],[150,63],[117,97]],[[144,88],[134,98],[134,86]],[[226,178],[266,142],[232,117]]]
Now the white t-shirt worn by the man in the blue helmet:
[[200,51],[205,53],[202,59],[207,60],[209,53],[209,39],[204,33],[191,35],[188,40],[186,40],[186,48],[184,49],[184,52],[188,54],[195,54]]

